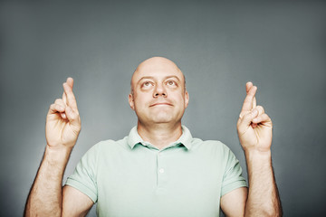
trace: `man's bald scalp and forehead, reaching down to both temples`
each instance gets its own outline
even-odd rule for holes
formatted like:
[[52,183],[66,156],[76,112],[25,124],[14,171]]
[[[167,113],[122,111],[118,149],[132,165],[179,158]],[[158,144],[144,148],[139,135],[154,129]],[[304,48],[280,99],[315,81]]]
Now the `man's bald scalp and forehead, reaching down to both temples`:
[[142,61],[134,71],[130,82],[131,94],[133,93],[134,87],[139,79],[151,76],[153,73],[164,74],[167,72],[170,74],[175,74],[175,76],[177,77],[180,77],[179,79],[182,80],[182,83],[186,90],[185,75],[177,67],[176,63],[168,60],[165,57],[151,57],[146,61]]

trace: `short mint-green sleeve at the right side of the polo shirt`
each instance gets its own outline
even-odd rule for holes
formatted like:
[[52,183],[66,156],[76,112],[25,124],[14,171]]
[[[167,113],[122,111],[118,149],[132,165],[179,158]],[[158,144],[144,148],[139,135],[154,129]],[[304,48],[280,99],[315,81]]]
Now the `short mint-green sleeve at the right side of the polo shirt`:
[[223,175],[221,196],[236,188],[246,187],[245,178],[242,175],[242,168],[235,154],[227,148],[225,151],[225,174]]

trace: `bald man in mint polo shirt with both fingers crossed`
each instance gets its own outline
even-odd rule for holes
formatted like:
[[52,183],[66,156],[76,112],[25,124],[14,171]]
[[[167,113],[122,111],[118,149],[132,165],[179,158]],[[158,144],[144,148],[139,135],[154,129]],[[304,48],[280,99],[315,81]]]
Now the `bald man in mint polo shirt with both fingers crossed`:
[[129,137],[91,147],[62,188],[62,176],[81,130],[73,80],[46,119],[47,146],[26,203],[26,216],[280,216],[271,158],[272,121],[247,95],[237,122],[249,191],[232,152],[217,141],[191,137],[181,118],[189,96],[177,65],[143,61],[131,79],[130,108],[138,125]]

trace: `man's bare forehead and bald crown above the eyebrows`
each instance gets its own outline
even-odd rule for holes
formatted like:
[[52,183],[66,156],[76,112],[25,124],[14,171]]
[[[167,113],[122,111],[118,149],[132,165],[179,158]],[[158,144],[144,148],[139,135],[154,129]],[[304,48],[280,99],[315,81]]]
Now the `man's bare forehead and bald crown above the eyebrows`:
[[164,58],[152,58],[139,64],[132,76],[131,83],[135,84],[146,77],[159,80],[172,76],[177,77],[179,80],[184,80],[182,71],[177,68],[173,61]]

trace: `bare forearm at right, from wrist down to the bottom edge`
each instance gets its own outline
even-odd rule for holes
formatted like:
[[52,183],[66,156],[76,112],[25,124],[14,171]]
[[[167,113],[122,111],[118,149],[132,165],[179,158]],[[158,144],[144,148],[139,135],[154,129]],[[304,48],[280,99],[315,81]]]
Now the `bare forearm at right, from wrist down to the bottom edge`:
[[282,216],[271,152],[245,151],[249,192],[245,216]]

